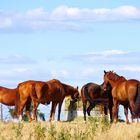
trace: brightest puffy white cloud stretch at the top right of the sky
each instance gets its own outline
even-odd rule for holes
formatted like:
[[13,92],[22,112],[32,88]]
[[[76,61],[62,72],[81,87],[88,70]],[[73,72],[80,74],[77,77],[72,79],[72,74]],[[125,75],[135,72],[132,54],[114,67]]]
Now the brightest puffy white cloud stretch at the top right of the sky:
[[140,10],[134,6],[120,6],[109,8],[71,8],[60,6],[53,10],[51,18],[55,20],[81,20],[81,21],[118,21],[126,19],[140,19]]

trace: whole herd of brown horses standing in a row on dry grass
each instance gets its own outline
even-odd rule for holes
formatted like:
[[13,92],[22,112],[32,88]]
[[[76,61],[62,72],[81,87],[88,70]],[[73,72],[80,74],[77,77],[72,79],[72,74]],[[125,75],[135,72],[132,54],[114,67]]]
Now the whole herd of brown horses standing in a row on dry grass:
[[[57,79],[44,81],[28,80],[19,83],[15,89],[0,87],[0,103],[7,106],[15,106],[19,120],[23,120],[23,109],[26,108],[28,121],[37,121],[37,108],[39,104],[50,104],[50,121],[53,121],[56,107],[58,105],[58,118],[60,121],[61,106],[65,97],[70,96],[72,102],[82,100],[84,120],[86,113],[90,116],[91,110],[96,105],[103,105],[104,113],[107,109],[110,113],[110,121],[118,121],[118,106],[124,106],[126,123],[129,123],[128,109],[132,121],[140,118],[140,82],[136,79],[127,80],[113,71],[104,71],[103,84],[87,83],[81,88],[81,95],[78,88],[62,83]],[[32,117],[30,107],[32,104]],[[107,107],[107,108],[106,108]]]

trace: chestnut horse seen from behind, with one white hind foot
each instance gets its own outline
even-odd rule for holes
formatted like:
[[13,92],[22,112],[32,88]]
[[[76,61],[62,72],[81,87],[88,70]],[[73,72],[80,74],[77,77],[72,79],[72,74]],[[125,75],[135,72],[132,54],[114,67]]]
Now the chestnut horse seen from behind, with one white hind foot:
[[[35,91],[35,93],[33,91]],[[31,122],[32,120],[37,120],[36,110],[39,104],[38,102],[35,101],[34,96],[37,93],[37,95],[39,96],[38,98],[41,98],[40,96],[45,94],[45,92],[46,92],[46,83],[42,81],[28,80],[18,84],[16,96],[17,100],[16,109],[18,110],[20,121],[23,120],[23,109],[25,106],[28,121]],[[31,101],[33,105],[33,118],[31,118],[30,115]]]

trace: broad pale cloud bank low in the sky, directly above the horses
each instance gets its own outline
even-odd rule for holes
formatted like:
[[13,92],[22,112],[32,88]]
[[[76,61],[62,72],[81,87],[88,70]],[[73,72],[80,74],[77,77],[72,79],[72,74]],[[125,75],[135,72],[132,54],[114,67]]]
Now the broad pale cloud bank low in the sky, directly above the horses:
[[[75,85],[83,85],[90,81],[101,83],[103,81],[103,70],[114,70],[117,74],[126,78],[139,80],[140,77],[140,52],[105,50],[69,57],[62,56],[59,59],[52,58],[53,65],[51,64],[51,58],[50,63],[46,59],[45,63],[40,64],[39,61],[37,63],[28,61],[25,56],[15,56],[15,58],[19,58],[18,62],[14,58],[5,63],[0,70],[2,86],[10,85],[14,87],[18,82],[29,79],[47,81],[53,78]],[[5,57],[5,60],[4,58],[0,59],[0,62],[6,62],[8,57]]]

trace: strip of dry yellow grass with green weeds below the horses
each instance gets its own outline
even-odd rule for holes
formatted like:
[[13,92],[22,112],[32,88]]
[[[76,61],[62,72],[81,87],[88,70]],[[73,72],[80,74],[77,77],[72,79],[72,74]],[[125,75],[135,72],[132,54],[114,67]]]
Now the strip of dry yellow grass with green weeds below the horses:
[[72,122],[0,122],[0,140],[138,140],[140,123],[110,125],[104,119]]

